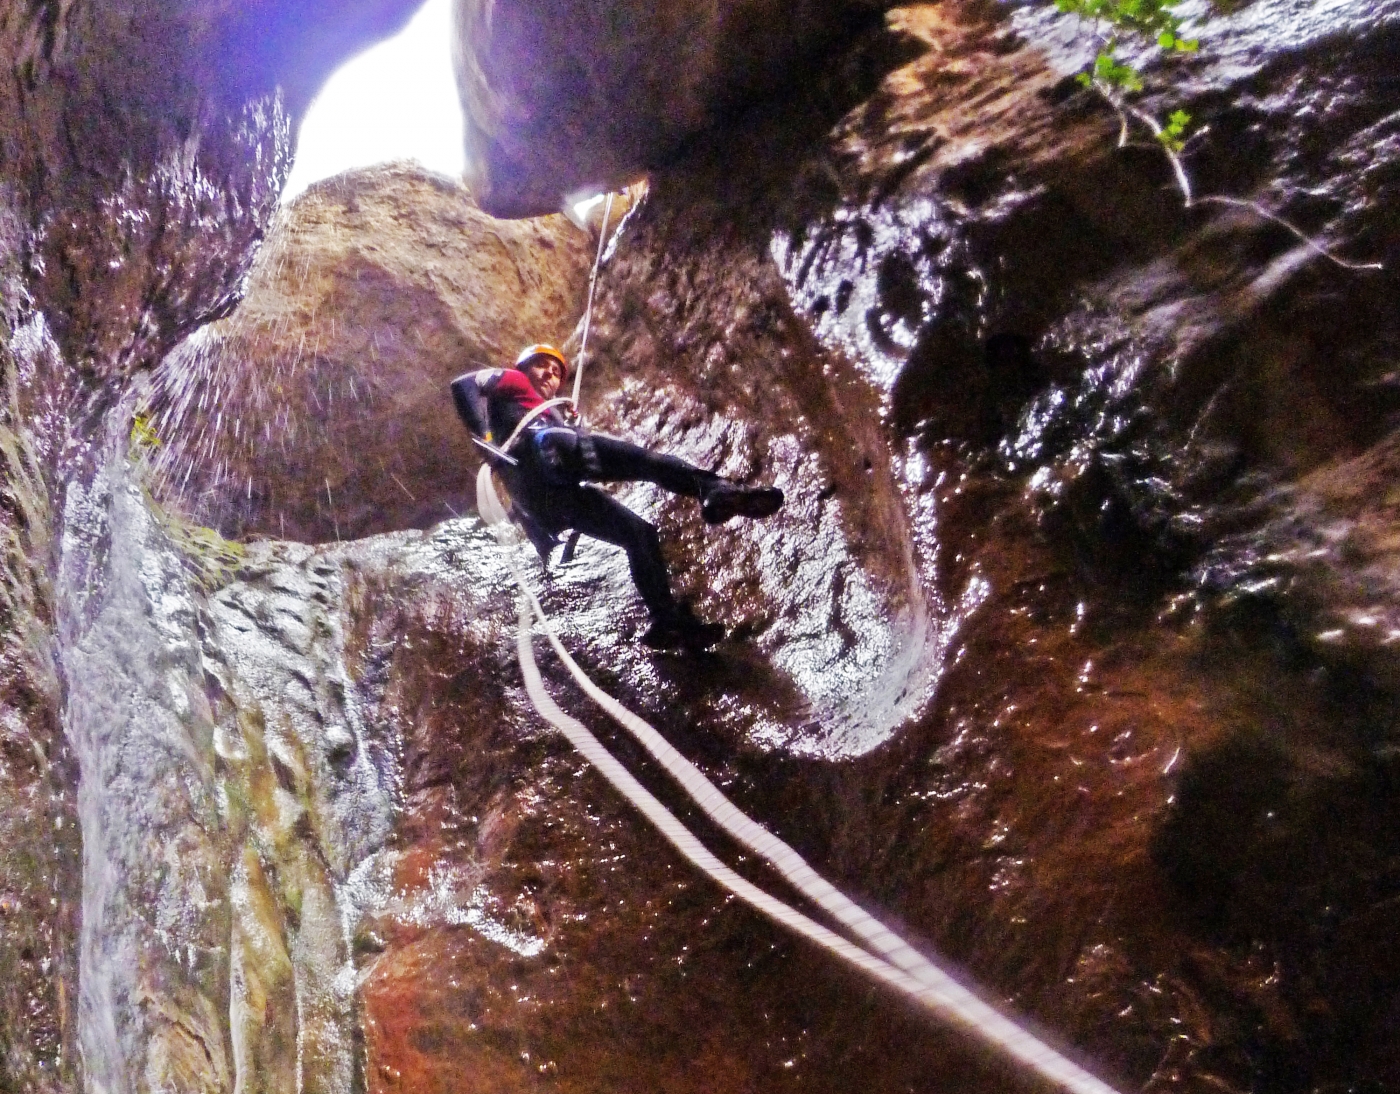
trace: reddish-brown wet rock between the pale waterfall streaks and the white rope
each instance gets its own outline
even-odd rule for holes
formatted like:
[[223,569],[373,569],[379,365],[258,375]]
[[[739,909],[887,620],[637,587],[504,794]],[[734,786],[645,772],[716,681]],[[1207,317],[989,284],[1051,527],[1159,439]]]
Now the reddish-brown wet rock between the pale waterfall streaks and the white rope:
[[[697,877],[538,735],[508,636],[465,637],[463,611],[395,625],[406,807],[399,912],[360,955],[371,1091],[1035,1088]],[[482,918],[430,909],[454,873]]]

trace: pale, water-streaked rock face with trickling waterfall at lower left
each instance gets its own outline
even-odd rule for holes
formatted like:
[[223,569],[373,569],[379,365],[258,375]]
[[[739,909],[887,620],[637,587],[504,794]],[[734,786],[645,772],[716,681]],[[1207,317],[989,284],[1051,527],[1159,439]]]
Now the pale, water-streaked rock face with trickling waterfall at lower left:
[[84,1081],[349,1091],[346,894],[389,836],[398,777],[357,686],[357,577],[172,520],[146,473],[119,458],[69,487],[56,583]]

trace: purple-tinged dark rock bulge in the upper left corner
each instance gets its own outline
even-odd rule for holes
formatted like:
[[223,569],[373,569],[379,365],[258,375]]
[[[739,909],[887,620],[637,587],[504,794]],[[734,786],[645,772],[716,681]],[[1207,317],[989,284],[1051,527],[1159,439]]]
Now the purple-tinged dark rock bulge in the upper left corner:
[[[150,367],[232,307],[288,165],[288,106],[305,106],[336,48],[412,14],[307,7],[7,8],[6,182],[27,206],[36,304],[84,370]],[[269,35],[267,18],[300,34]]]

